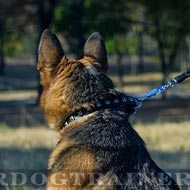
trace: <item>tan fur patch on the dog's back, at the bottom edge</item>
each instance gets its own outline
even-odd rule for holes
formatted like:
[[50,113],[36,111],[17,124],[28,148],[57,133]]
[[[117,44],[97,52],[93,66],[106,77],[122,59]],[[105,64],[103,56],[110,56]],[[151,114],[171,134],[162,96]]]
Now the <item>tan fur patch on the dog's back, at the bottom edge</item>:
[[[57,147],[56,149],[58,148],[65,147]],[[54,151],[54,153],[55,156],[57,156],[56,151]],[[65,162],[66,164],[64,165],[62,172],[59,173],[59,175],[62,177],[62,180],[65,179],[63,182],[64,184],[60,184],[62,182],[58,182],[57,184],[56,181],[59,178],[57,173],[51,174],[48,178],[48,189],[54,189],[56,186],[63,190],[91,189],[92,187],[86,187],[86,185],[88,185],[90,180],[89,174],[95,172],[98,169],[94,160],[94,155],[85,147],[81,147],[79,151],[73,153],[71,157],[68,157]]]

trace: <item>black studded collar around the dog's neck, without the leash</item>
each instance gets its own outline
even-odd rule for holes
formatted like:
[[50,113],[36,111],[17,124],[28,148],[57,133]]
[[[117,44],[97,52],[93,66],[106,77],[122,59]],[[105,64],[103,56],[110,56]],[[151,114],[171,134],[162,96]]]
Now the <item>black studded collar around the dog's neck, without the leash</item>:
[[91,114],[93,112],[111,109],[111,108],[126,108],[129,109],[129,114],[132,114],[136,111],[136,108],[139,106],[138,98],[133,96],[120,96],[113,99],[102,99],[94,103],[92,108],[81,108],[80,110],[75,111],[71,114],[65,121],[65,126],[70,122],[77,120],[78,118]]

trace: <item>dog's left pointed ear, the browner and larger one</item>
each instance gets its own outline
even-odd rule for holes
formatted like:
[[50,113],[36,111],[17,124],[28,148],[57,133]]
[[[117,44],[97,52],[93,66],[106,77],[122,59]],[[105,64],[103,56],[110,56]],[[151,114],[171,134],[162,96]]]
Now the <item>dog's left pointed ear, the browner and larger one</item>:
[[64,51],[56,35],[49,29],[44,30],[38,47],[38,62],[43,62],[43,66],[51,68],[56,66],[63,56]]

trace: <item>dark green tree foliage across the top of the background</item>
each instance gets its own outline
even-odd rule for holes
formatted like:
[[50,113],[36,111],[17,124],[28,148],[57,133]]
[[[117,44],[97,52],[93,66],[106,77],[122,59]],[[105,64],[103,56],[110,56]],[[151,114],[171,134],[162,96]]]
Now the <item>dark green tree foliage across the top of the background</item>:
[[[1,1],[3,34],[0,33],[0,38],[3,38],[6,55],[25,53],[26,46],[28,51],[33,49],[34,52],[37,45],[30,42],[34,42],[44,28],[51,27],[63,35],[70,52],[79,55],[78,51],[81,52],[87,36],[99,31],[107,42],[109,52],[138,55],[139,43],[142,43],[138,41],[138,34],[142,33],[157,42],[162,70],[167,73],[169,68],[174,67],[183,47],[188,49],[189,8],[188,0]],[[28,25],[36,28],[29,35],[25,32]],[[145,43],[147,39],[150,38],[144,38]]]

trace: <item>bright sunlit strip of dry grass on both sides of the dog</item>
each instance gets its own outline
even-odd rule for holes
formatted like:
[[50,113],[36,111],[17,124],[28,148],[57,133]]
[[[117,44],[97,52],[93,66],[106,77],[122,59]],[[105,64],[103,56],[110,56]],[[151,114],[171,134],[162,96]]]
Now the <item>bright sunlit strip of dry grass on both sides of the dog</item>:
[[[46,127],[11,129],[0,126],[0,147],[51,148],[58,134]],[[190,122],[136,124],[135,129],[150,150],[188,151],[190,150]]]

